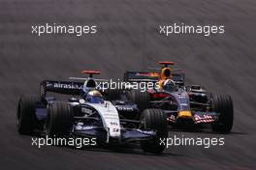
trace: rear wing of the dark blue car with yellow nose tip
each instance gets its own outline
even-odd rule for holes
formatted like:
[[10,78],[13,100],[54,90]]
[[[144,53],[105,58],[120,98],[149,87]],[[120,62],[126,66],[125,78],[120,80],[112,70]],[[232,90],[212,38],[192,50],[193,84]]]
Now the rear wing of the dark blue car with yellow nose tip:
[[[124,72],[123,81],[127,82],[156,82],[159,79],[159,73],[150,71],[126,71]],[[172,73],[172,80],[177,85],[183,86],[185,81],[185,73]]]

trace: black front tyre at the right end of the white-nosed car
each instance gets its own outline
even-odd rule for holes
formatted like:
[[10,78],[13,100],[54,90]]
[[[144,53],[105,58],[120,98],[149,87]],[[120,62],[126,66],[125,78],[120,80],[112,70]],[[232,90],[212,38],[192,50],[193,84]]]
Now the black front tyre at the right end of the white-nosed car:
[[165,145],[161,144],[161,139],[168,137],[167,117],[161,109],[145,109],[141,116],[143,129],[156,130],[156,136],[151,140],[141,141],[144,152],[161,154],[165,150]]

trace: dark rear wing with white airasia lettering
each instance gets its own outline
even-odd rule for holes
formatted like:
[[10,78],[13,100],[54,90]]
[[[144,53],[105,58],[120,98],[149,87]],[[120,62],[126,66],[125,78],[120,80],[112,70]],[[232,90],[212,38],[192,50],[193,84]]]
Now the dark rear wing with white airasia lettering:
[[40,83],[40,95],[45,97],[48,92],[65,95],[80,95],[83,82],[44,80]]

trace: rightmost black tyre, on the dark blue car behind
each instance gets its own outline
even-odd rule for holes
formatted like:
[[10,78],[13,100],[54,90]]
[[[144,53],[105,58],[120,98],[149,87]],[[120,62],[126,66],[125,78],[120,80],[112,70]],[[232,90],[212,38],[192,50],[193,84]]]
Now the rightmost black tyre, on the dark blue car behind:
[[233,101],[228,95],[212,95],[213,111],[219,113],[219,119],[211,124],[213,131],[228,133],[233,127]]

